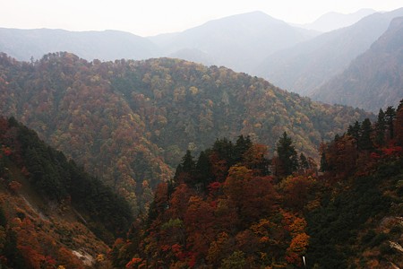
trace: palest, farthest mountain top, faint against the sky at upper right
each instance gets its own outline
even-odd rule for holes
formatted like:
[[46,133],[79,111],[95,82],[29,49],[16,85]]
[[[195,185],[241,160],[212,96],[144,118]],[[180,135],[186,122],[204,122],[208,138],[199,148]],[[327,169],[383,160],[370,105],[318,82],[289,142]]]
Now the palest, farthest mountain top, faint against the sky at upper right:
[[353,25],[354,23],[360,21],[364,17],[376,13],[373,9],[364,8],[360,9],[356,13],[326,13],[323,14],[319,19],[312,23],[301,25],[305,29],[318,30],[322,32],[330,30],[338,30],[343,27]]

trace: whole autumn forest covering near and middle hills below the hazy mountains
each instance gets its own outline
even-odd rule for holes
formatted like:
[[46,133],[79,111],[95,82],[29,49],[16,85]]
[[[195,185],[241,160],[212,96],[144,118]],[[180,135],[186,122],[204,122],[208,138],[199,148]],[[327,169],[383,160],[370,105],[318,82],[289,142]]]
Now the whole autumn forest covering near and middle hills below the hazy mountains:
[[0,118],[4,268],[403,266],[403,100],[371,117],[224,67],[68,53],[2,55],[0,94],[39,133]]

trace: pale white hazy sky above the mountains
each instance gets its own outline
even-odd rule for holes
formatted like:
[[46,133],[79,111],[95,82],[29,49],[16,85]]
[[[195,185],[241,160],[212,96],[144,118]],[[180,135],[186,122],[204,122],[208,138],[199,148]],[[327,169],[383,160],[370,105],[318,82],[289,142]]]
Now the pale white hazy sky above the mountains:
[[0,0],[0,27],[125,30],[150,36],[258,10],[285,22],[307,23],[331,11],[402,6],[402,0]]

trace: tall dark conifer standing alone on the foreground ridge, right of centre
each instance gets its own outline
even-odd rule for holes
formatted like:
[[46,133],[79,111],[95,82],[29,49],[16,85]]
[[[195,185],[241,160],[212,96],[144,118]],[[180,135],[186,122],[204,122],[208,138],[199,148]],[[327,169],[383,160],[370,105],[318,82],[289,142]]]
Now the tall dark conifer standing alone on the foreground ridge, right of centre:
[[291,175],[298,168],[298,156],[296,148],[293,146],[291,137],[284,132],[277,143],[277,153],[279,155],[280,172],[279,176]]

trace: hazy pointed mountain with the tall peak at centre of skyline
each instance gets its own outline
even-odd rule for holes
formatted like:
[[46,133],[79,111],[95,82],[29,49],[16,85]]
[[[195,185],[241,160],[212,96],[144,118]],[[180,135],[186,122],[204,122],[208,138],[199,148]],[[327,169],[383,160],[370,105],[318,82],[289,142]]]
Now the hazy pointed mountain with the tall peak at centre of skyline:
[[[172,36],[170,42],[159,37],[151,40],[160,41],[157,44],[162,45],[167,56],[182,56],[185,60],[197,60],[204,65],[212,62],[250,73],[263,57],[310,39],[315,34],[292,27],[265,13],[253,12],[206,22]],[[182,49],[200,50],[210,60],[178,54],[177,51]]]

